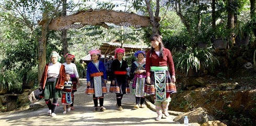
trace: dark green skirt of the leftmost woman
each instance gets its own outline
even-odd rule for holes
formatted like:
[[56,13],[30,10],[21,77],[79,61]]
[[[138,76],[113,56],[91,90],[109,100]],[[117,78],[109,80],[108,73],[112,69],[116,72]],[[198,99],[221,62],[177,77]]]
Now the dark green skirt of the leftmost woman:
[[45,83],[45,88],[44,88],[44,99],[58,99],[61,98],[61,89],[56,89],[56,82],[58,78],[48,78]]

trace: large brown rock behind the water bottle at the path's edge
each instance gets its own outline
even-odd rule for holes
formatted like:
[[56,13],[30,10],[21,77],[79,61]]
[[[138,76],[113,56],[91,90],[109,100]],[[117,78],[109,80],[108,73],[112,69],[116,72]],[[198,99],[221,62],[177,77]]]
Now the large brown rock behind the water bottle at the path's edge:
[[193,111],[177,116],[173,119],[173,121],[183,124],[184,116],[188,116],[189,123],[203,124],[204,122],[215,120],[213,116],[208,114],[207,110],[204,107],[199,107]]

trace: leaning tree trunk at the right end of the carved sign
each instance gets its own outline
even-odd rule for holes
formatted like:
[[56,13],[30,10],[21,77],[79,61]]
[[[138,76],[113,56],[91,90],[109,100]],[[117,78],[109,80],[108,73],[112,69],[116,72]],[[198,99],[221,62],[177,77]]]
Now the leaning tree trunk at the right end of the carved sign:
[[[149,18],[150,18],[150,24],[152,25],[152,34],[160,34],[159,27],[158,27],[159,24],[157,25],[158,22],[155,21],[155,17],[154,17],[154,13],[153,13],[153,10],[150,5],[150,1],[145,0],[145,2],[147,5],[147,10],[148,10]],[[157,2],[158,2],[157,4],[159,5],[159,1],[157,1]],[[159,12],[156,11],[156,14],[157,13],[159,13]]]

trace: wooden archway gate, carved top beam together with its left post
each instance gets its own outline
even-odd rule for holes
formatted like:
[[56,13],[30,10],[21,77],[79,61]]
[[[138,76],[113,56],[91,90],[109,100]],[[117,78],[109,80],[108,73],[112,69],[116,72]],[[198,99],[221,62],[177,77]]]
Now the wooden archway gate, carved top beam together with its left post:
[[[119,26],[133,26],[135,28],[146,27],[150,20],[147,16],[139,16],[131,12],[113,11],[113,10],[84,10],[79,11],[73,15],[61,16],[51,22],[46,20],[43,14],[39,25],[42,25],[42,38],[39,41],[39,64],[38,64],[38,80],[40,82],[46,62],[46,33],[48,30],[62,30],[62,29],[79,29],[84,25],[101,25],[108,27],[107,23],[113,23]],[[155,20],[160,20],[156,17]],[[49,22],[49,23],[48,23]]]

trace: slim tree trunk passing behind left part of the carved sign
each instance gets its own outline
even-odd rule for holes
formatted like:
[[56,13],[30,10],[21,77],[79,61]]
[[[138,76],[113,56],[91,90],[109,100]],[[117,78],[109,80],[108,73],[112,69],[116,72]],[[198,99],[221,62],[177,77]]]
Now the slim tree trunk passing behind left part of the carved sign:
[[[62,1],[63,8],[62,8],[62,16],[65,17],[67,15],[67,0]],[[62,42],[62,53],[65,55],[67,51],[67,30],[61,30],[61,42]],[[65,59],[64,59],[65,60]]]

